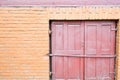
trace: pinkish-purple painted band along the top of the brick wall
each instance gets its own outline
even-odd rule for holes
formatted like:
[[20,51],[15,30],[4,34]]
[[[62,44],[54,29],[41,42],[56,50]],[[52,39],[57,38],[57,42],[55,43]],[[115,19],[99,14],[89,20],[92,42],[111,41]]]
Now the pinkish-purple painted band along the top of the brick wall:
[[0,0],[2,6],[120,5],[120,0]]

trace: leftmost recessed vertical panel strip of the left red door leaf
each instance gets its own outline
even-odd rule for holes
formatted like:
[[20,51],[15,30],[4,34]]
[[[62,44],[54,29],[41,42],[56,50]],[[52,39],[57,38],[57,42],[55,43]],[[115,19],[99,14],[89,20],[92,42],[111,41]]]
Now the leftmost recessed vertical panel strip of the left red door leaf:
[[[64,50],[64,23],[59,23],[56,24],[56,51],[59,50]],[[59,54],[56,53],[55,54]],[[64,58],[63,57],[59,57],[56,56],[56,60],[55,60],[55,69],[56,69],[56,78],[57,79],[63,79],[64,76]]]

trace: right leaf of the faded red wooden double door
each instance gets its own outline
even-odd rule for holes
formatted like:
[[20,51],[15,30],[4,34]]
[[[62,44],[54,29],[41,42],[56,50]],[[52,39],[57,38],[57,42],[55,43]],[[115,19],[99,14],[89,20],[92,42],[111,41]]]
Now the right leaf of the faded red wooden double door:
[[85,22],[85,80],[114,80],[115,23]]

